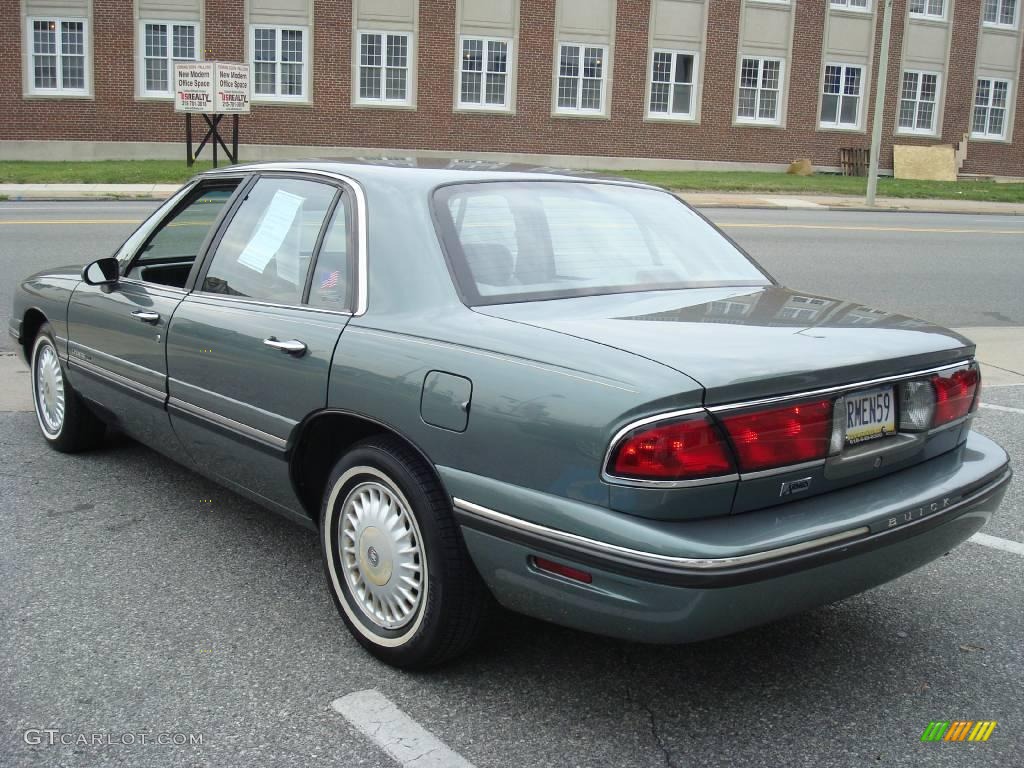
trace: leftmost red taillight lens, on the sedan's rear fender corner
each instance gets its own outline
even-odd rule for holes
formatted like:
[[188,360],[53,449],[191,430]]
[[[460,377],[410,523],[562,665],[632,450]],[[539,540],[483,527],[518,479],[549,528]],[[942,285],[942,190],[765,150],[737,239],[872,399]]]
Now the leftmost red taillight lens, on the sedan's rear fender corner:
[[725,439],[706,416],[640,428],[620,441],[608,471],[643,480],[685,480],[734,471]]

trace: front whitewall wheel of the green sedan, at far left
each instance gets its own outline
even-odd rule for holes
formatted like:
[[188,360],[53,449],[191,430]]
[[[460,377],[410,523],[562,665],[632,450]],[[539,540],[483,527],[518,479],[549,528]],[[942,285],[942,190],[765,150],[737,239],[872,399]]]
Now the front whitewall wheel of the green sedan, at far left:
[[102,439],[105,426],[65,377],[48,323],[32,344],[32,402],[43,437],[57,451],[73,454]]

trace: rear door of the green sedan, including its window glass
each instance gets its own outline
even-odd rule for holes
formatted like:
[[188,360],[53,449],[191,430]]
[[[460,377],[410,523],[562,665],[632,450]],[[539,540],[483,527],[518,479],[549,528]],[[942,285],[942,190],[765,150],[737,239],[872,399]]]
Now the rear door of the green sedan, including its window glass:
[[281,511],[302,514],[286,449],[327,404],[350,316],[349,200],[321,178],[257,178],[168,333],[175,432],[204,470]]

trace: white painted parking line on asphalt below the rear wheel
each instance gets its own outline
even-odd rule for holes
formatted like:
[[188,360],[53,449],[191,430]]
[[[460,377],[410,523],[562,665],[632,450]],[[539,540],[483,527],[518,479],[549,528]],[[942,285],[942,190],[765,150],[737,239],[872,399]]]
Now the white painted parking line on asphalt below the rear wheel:
[[336,698],[331,707],[402,766],[473,768],[380,691],[355,691]]

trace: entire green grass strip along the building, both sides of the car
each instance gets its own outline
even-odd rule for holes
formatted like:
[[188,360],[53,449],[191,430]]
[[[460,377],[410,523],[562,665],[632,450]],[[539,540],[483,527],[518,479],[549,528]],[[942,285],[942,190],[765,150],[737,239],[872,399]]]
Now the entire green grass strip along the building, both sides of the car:
[[[96,162],[0,162],[0,183],[10,184],[160,184],[180,183],[210,168],[181,160],[102,160]],[[763,171],[609,171],[612,176],[647,181],[686,191],[782,193],[862,196],[866,179],[821,174],[791,176]],[[879,179],[879,197],[981,200],[1024,203],[1024,183],[993,181],[911,181]]]

